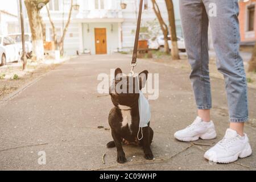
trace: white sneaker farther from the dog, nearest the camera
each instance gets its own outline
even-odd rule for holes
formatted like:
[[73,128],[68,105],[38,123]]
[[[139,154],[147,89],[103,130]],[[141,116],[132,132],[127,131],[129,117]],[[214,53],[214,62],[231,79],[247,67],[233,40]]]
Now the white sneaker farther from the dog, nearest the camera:
[[247,135],[241,137],[237,131],[228,129],[224,138],[205,152],[204,157],[216,163],[232,163],[238,158],[250,156],[251,152]]

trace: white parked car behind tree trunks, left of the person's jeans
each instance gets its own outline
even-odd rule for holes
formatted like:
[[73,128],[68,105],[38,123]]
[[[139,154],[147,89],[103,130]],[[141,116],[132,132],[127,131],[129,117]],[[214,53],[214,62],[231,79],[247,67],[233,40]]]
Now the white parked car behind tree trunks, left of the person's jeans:
[[[171,42],[171,36],[170,35],[168,35],[168,44],[169,44],[169,47],[171,49],[172,48],[172,42]],[[186,51],[185,42],[184,42],[183,38],[177,36],[177,44],[178,44],[178,48],[181,52]],[[161,35],[161,36],[158,36],[158,38],[156,38],[156,40],[154,40],[154,41],[151,40],[149,42],[149,48],[163,50],[163,48],[164,48],[164,36]]]

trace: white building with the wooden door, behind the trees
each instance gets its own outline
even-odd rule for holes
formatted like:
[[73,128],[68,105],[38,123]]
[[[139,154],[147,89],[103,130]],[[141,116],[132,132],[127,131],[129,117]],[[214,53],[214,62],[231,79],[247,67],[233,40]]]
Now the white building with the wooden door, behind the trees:
[[[57,36],[60,37],[67,22],[70,8],[69,0],[51,0],[48,4],[55,23]],[[168,14],[164,0],[158,0],[163,18],[168,24]],[[182,35],[178,1],[175,4],[177,34]],[[73,10],[71,23],[65,36],[64,51],[69,55],[89,50],[92,54],[111,54],[117,50],[131,49],[137,24],[139,0],[77,0],[79,10]],[[121,9],[126,3],[126,9]],[[47,41],[52,40],[52,28],[46,8],[41,14],[46,22]],[[142,26],[156,19],[152,3],[144,0]],[[159,32],[161,34],[161,32]]]

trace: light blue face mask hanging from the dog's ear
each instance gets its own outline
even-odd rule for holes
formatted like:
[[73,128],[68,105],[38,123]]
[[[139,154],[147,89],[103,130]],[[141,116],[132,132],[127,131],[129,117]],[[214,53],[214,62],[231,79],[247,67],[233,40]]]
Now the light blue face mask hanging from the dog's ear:
[[[138,77],[138,85],[139,85],[139,77]],[[150,118],[151,118],[151,114],[150,114],[150,104],[141,90],[139,90],[138,105],[139,105],[139,131],[141,130],[141,134],[142,134],[142,128],[147,127],[148,122],[150,121]],[[138,131],[137,138],[138,140],[141,140],[143,138],[143,134],[142,134],[142,138],[139,139],[139,131]]]

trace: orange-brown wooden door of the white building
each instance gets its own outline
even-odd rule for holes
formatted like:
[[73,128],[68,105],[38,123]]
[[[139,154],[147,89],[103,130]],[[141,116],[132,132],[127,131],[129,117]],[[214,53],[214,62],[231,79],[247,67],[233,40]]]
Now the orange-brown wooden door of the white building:
[[95,47],[96,54],[106,54],[107,46],[106,46],[106,28],[95,28]]

